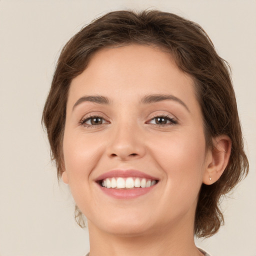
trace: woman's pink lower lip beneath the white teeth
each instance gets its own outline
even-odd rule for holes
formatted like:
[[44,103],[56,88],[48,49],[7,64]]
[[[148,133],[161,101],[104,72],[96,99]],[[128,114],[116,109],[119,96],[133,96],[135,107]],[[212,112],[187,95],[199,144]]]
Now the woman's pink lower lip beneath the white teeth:
[[111,197],[117,198],[117,199],[136,198],[136,197],[139,197],[143,194],[148,193],[154,187],[155,187],[155,185],[149,186],[149,187],[143,187],[143,188],[140,187],[140,188],[129,188],[129,189],[116,189],[116,188],[106,188],[106,187],[100,186],[101,190],[105,194],[107,194]]

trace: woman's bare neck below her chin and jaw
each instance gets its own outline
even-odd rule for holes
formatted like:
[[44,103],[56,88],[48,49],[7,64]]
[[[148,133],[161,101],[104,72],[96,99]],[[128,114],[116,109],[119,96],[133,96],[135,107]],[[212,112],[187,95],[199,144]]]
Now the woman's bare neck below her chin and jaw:
[[[136,235],[103,232],[88,221],[90,256],[201,256],[194,244],[193,225],[172,225]],[[171,230],[171,231],[170,231]]]

